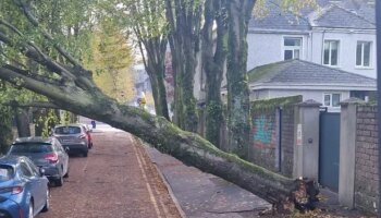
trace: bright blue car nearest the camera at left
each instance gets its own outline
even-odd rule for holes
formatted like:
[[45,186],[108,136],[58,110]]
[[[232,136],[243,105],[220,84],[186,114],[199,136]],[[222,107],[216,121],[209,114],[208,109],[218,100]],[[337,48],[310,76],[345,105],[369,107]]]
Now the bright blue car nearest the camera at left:
[[49,210],[49,186],[44,170],[27,158],[0,158],[0,217],[30,218]]

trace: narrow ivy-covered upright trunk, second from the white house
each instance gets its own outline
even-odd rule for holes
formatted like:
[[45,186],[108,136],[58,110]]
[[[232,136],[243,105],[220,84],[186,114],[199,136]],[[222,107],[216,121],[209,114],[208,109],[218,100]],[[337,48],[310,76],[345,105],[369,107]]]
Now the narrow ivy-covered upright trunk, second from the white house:
[[[206,138],[220,146],[220,133],[224,123],[221,100],[221,83],[226,60],[224,0],[207,0],[202,28],[202,70],[206,73]],[[216,41],[213,22],[217,23]],[[216,48],[214,48],[216,46]]]

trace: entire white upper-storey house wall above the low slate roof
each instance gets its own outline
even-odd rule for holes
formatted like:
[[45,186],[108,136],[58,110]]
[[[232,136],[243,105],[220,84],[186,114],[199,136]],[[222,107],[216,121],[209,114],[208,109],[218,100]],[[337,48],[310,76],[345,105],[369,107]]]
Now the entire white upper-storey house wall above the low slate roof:
[[[314,29],[312,32],[296,33],[261,33],[251,31],[247,35],[247,70],[283,61],[283,39],[287,36],[302,37],[303,48],[300,60],[311,61],[318,64],[322,64],[324,40],[340,40],[339,65],[334,68],[376,78],[376,31]],[[372,41],[370,68],[356,66],[356,47],[359,40]]]

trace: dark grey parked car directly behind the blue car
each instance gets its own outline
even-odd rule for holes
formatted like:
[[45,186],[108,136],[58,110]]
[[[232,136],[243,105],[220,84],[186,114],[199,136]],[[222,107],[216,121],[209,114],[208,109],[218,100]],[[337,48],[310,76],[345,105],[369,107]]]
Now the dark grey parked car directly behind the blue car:
[[67,150],[56,137],[20,137],[12,143],[8,155],[28,157],[58,186],[69,177]]

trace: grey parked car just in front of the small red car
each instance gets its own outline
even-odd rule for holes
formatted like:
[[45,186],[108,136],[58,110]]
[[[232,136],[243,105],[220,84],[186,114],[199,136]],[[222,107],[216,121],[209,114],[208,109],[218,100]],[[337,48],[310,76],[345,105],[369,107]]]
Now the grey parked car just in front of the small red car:
[[82,154],[87,157],[88,136],[82,124],[57,125],[53,130],[56,136],[63,147],[69,147],[71,154]]

